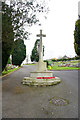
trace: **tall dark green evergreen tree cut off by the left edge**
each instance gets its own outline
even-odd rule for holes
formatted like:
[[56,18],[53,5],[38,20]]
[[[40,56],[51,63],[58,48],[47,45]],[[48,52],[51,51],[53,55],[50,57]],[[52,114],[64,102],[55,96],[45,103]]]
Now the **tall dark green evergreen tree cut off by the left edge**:
[[11,20],[10,7],[2,3],[2,70],[4,70],[8,58],[11,54],[13,42],[14,42],[14,32]]

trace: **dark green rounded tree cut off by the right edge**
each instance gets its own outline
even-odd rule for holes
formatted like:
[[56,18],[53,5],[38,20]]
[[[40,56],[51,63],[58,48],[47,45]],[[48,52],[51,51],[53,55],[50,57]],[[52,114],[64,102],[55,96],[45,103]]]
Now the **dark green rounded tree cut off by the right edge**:
[[80,18],[75,23],[74,48],[75,48],[76,54],[80,56]]

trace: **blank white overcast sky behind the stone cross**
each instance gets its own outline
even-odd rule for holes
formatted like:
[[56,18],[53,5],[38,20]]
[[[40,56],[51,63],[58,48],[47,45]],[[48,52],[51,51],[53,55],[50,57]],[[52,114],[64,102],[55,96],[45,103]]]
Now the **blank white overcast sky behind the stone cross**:
[[26,54],[30,61],[31,51],[37,39],[36,35],[43,30],[46,37],[43,38],[45,52],[43,59],[59,58],[67,55],[74,57],[74,30],[75,22],[78,19],[79,0],[50,0],[48,3],[49,13],[45,20],[40,17],[42,26],[33,25],[29,28],[32,35],[26,40]]

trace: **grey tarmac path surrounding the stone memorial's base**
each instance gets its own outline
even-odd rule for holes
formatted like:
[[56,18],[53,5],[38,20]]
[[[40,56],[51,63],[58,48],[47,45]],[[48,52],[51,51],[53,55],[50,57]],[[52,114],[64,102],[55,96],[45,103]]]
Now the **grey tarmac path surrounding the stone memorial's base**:
[[[23,77],[34,70],[35,65],[26,65],[3,77],[3,118],[78,118],[78,71],[53,71],[62,80],[58,85],[22,85]],[[50,102],[53,97],[69,100],[69,104],[56,106]]]

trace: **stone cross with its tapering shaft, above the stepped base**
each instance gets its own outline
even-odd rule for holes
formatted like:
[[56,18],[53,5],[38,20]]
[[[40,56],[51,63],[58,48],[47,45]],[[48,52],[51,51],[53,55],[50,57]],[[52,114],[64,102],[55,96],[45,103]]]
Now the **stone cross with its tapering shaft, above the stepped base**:
[[43,35],[42,30],[40,30],[40,34],[38,34],[37,37],[40,37],[39,61],[43,61],[42,37],[46,37],[46,35]]

